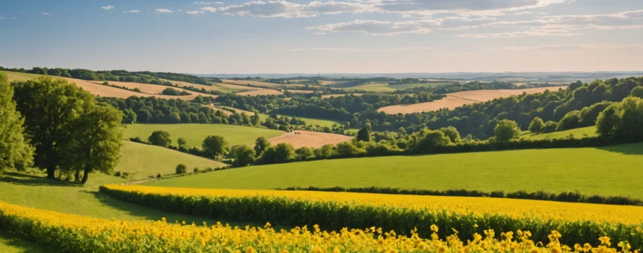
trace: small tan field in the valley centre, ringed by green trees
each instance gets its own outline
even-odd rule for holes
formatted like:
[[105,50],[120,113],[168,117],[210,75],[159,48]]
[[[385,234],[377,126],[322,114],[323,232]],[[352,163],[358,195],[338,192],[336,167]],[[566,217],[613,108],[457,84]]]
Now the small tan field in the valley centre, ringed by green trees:
[[326,144],[335,145],[344,141],[351,141],[353,137],[344,136],[341,134],[328,134],[316,131],[294,131],[282,136],[269,138],[268,141],[272,145],[278,143],[289,143],[294,148],[308,147],[308,148],[321,148]]

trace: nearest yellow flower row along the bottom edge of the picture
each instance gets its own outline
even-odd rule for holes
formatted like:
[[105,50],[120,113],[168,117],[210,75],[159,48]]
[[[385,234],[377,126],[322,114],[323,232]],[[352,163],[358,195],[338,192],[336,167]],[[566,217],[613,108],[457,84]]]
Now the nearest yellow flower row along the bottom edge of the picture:
[[[486,230],[474,234],[474,239],[462,242],[457,233],[446,240],[431,226],[430,239],[420,238],[415,231],[409,237],[394,232],[383,233],[381,228],[339,232],[320,231],[318,226],[290,231],[274,231],[267,223],[264,228],[231,228],[217,223],[214,226],[182,225],[161,221],[109,221],[74,214],[44,211],[0,202],[0,228],[20,233],[62,252],[630,252],[628,242],[610,242],[607,237],[596,238],[597,247],[576,244],[571,247],[559,242],[560,233],[552,231],[547,245],[531,240],[528,231],[501,233]],[[637,251],[634,251],[637,253]]]

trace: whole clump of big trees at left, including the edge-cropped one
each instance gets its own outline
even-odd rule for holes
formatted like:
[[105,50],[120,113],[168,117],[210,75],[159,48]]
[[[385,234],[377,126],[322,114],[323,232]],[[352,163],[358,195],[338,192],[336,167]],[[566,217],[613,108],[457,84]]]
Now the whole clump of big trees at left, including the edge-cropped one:
[[85,183],[119,161],[122,112],[63,79],[8,84],[0,74],[2,169],[46,169],[48,179]]

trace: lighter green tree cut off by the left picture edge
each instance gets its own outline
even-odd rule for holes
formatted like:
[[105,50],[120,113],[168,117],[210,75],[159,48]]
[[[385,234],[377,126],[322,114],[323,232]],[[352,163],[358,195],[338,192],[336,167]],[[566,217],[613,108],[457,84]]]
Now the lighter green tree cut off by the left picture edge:
[[33,148],[25,140],[24,120],[15,110],[13,89],[0,73],[0,173],[4,169],[25,169],[33,163]]

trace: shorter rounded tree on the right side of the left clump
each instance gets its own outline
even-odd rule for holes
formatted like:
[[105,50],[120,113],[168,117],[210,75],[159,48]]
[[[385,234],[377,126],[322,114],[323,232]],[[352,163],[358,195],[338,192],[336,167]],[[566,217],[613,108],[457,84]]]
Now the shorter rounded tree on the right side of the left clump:
[[[75,171],[76,181],[86,183],[89,173],[110,173],[119,162],[122,146],[120,123],[123,114],[110,105],[93,105],[73,126],[66,167]],[[79,179],[80,173],[82,179]]]

